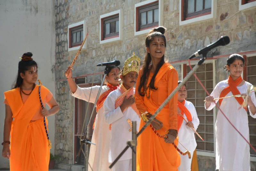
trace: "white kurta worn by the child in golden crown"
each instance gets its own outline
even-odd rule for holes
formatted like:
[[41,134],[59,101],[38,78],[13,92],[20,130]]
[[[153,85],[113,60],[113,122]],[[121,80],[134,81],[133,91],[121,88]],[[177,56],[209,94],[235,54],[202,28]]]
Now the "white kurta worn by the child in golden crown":
[[[116,89],[108,95],[103,104],[105,110],[104,118],[108,124],[112,123],[110,149],[108,154],[108,162],[110,163],[112,163],[124,150],[127,145],[126,142],[132,140],[132,131],[129,132],[131,127],[128,124],[127,119],[130,118],[131,121],[137,121],[137,131],[139,130],[140,125],[140,118],[131,106],[127,107],[124,112],[121,111],[120,107],[115,109],[116,99],[121,95],[122,93]],[[118,161],[131,158],[132,149],[129,148]]]

